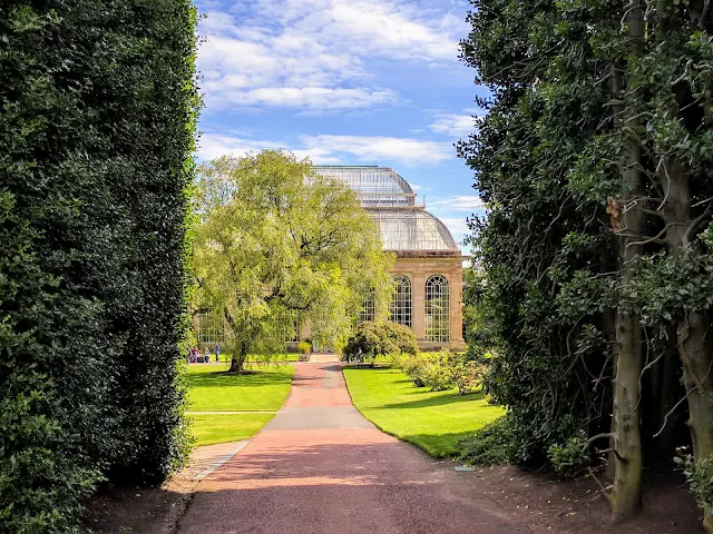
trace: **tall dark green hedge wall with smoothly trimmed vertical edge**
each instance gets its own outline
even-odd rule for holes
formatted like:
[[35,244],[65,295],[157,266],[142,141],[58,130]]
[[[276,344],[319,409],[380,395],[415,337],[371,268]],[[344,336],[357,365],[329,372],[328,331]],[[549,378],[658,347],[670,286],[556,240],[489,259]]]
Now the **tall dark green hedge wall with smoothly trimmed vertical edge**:
[[191,0],[0,2],[0,532],[184,462]]

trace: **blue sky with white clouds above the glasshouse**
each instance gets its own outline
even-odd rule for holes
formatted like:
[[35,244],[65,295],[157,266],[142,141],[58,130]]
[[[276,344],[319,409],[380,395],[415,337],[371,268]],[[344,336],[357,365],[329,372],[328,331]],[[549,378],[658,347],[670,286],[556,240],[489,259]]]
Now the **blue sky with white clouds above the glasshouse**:
[[462,0],[197,0],[198,157],[284,148],[392,167],[458,240],[481,212],[453,142],[485,90],[458,60]]

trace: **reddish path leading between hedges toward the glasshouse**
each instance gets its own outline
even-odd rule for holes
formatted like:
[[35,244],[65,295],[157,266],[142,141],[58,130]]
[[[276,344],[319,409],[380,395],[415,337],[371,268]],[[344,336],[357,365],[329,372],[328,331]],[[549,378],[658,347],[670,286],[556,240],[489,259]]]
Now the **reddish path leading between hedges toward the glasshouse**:
[[338,364],[297,364],[284,408],[198,485],[178,532],[529,533],[472,476],[367,422]]

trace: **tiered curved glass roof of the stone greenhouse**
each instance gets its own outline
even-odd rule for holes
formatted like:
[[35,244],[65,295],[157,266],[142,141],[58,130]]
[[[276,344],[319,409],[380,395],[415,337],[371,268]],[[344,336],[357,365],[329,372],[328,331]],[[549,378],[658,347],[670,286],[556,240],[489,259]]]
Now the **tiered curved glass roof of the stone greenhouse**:
[[381,234],[385,250],[397,254],[460,255],[446,225],[417,206],[413,189],[385,167],[314,167],[322,176],[346,182],[361,199]]

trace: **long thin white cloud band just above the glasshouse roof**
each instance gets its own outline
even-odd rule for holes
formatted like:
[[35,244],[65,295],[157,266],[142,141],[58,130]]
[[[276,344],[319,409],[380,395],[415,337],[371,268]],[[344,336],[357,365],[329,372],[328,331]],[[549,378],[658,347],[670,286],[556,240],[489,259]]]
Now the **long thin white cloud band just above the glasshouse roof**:
[[304,136],[297,141],[252,139],[241,132],[207,132],[198,140],[201,159],[242,156],[265,148],[285,149],[315,164],[340,164],[354,158],[369,164],[398,162],[406,167],[436,165],[453,158],[449,144],[422,139],[370,136]]

